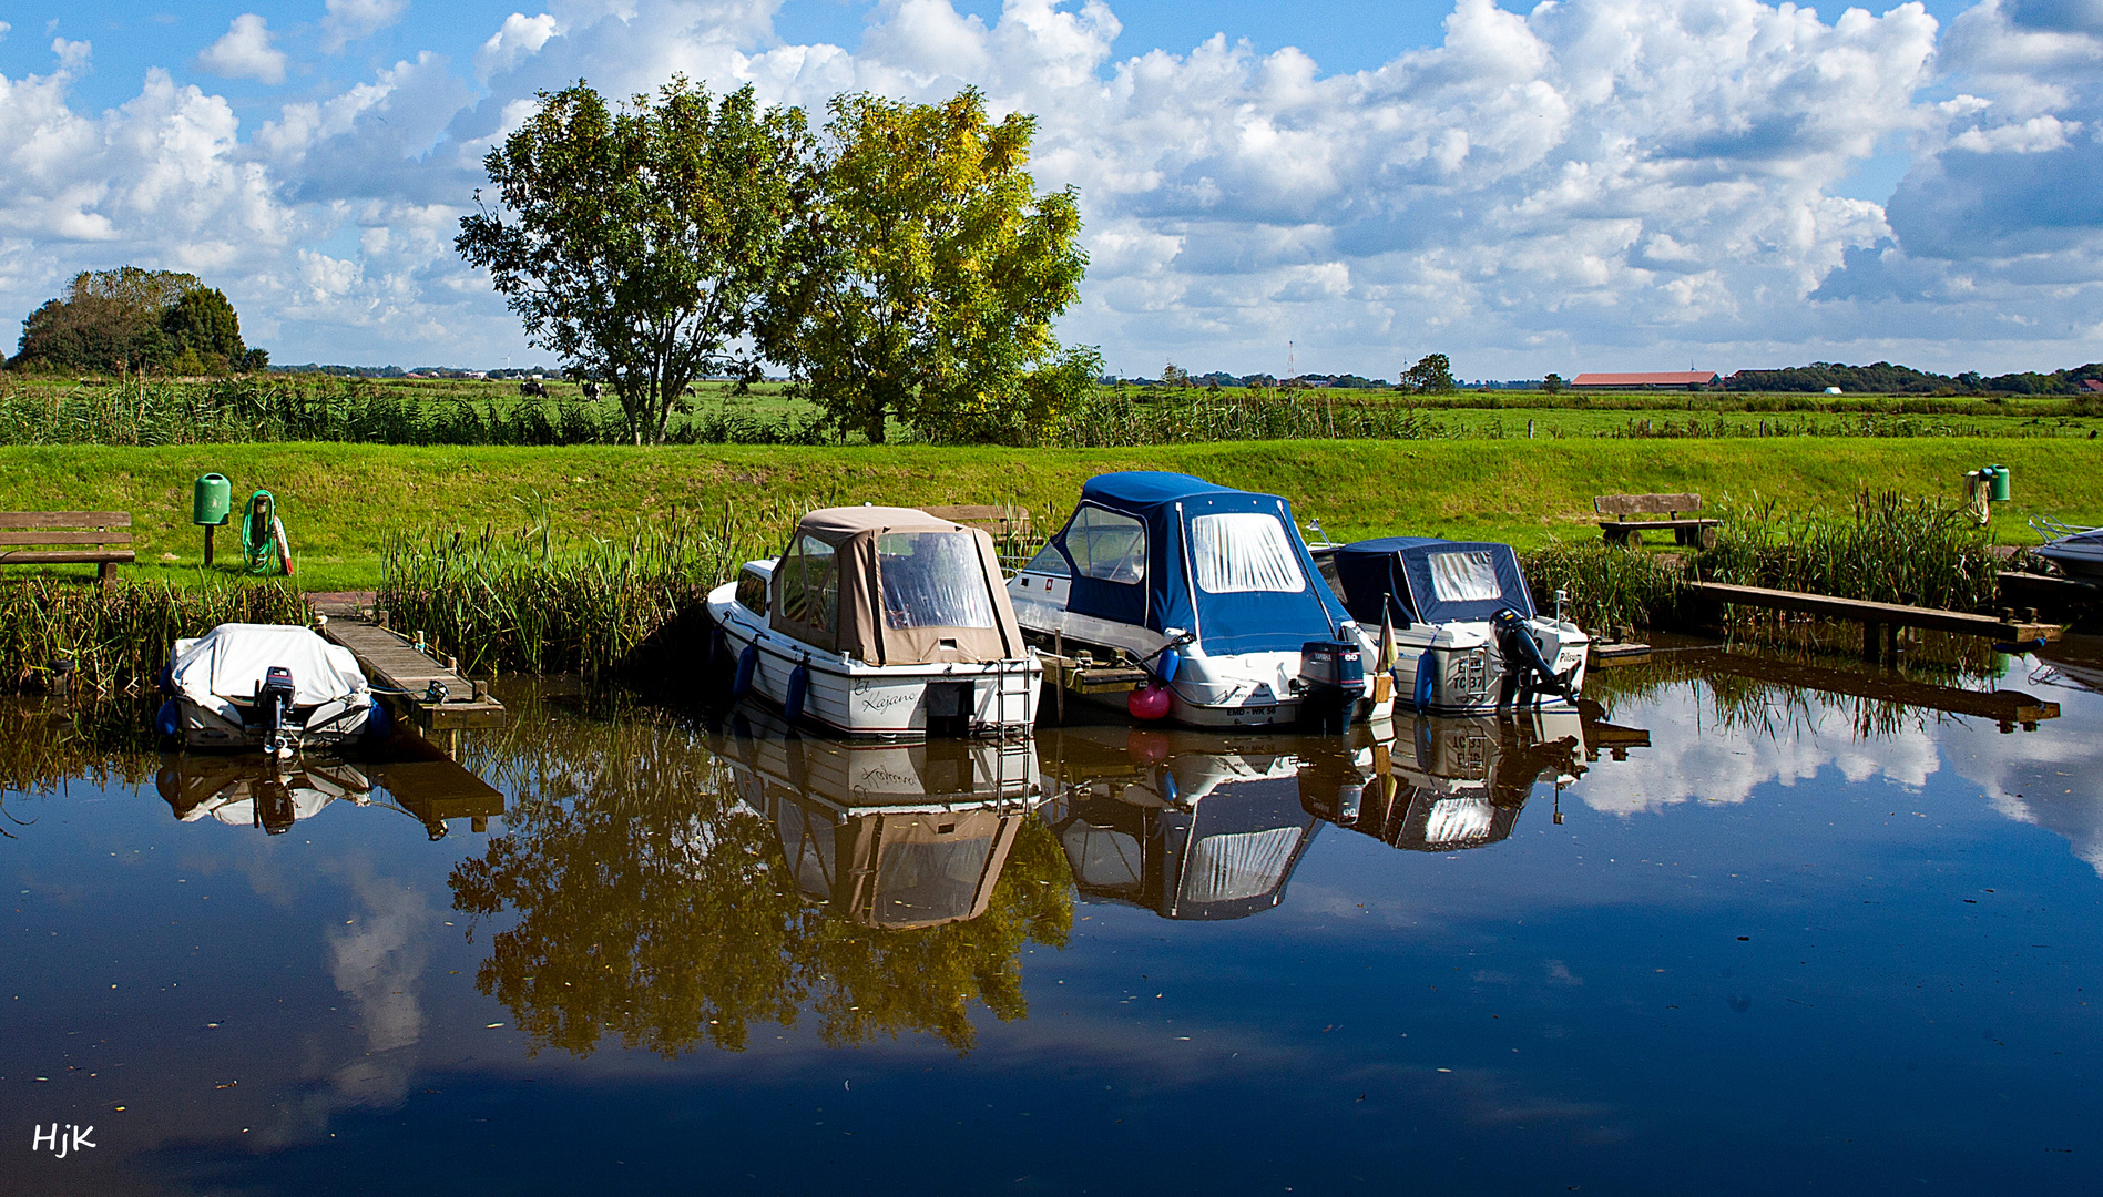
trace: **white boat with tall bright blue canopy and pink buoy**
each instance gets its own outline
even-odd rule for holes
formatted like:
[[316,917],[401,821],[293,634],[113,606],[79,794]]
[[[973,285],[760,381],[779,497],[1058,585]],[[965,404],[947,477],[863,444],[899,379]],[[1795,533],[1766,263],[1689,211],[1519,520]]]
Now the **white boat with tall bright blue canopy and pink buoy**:
[[1119,694],[1140,717],[1264,728],[1373,709],[1371,644],[1277,494],[1102,473],[1007,593],[1037,648],[1146,669],[1140,694]]

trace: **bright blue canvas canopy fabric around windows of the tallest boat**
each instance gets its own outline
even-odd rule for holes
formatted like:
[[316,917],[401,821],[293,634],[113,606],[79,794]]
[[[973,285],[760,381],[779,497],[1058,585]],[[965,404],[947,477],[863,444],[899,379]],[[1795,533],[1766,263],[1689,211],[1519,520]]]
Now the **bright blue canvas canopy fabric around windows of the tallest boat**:
[[[1087,511],[1100,509],[1138,520],[1146,530],[1144,570],[1131,581],[1087,576],[1077,568],[1077,555],[1087,547],[1068,547],[1068,534],[1085,526]],[[1192,522],[1203,515],[1260,511],[1283,526],[1285,551],[1298,562],[1298,591],[1255,589],[1211,593],[1197,585],[1192,566]],[[1338,625],[1350,616],[1329,593],[1306,541],[1293,524],[1293,509],[1277,494],[1253,494],[1213,486],[1188,473],[1121,471],[1102,473],[1081,488],[1081,507],[1052,545],[1073,570],[1073,591],[1066,610],[1117,623],[1165,631],[1195,631],[1211,654],[1234,652],[1298,652],[1308,640],[1338,635]],[[1102,572],[1102,570],[1098,570]],[[1125,574],[1129,576],[1129,574]]]

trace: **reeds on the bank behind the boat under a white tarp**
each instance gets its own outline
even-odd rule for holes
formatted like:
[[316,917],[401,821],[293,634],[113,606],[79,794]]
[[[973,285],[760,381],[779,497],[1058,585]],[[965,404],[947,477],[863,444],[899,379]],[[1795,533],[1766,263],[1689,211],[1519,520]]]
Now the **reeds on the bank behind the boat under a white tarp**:
[[118,694],[151,684],[175,642],[221,623],[307,623],[282,583],[93,585],[29,579],[0,587],[0,688]]

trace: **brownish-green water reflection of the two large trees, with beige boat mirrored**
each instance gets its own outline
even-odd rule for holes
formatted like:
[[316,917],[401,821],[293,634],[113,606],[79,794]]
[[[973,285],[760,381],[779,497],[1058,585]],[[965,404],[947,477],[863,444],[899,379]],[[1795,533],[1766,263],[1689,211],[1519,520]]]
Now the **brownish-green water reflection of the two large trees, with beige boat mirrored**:
[[742,1050],[805,1012],[826,1043],[963,1050],[974,1003],[1026,1016],[1022,949],[1066,940],[1028,743],[862,749],[753,713],[715,736],[543,728],[513,757],[509,835],[450,877],[456,909],[503,928],[477,985],[536,1050]]

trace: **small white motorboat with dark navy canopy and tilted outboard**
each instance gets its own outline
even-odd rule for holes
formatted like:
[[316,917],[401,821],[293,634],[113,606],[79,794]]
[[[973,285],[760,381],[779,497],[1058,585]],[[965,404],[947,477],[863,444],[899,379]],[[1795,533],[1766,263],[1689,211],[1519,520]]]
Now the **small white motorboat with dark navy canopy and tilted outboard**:
[[1321,564],[1359,625],[1392,627],[1396,703],[1466,715],[1577,701],[1592,637],[1533,610],[1510,545],[1386,536],[1325,547]]

